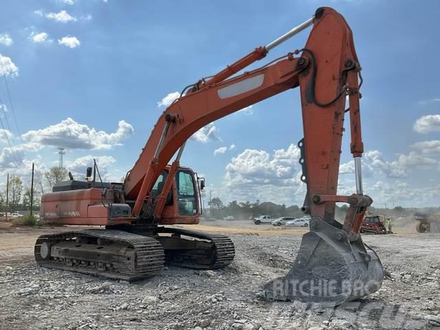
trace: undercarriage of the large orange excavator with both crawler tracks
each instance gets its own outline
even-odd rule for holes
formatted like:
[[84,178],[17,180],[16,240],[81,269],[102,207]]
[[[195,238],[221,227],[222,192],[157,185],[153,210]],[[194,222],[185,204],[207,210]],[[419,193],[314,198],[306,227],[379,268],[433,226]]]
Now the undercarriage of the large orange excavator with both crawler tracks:
[[104,278],[137,281],[160,274],[164,265],[212,270],[234,259],[234,243],[223,235],[179,228],[127,226],[40,236],[36,262]]

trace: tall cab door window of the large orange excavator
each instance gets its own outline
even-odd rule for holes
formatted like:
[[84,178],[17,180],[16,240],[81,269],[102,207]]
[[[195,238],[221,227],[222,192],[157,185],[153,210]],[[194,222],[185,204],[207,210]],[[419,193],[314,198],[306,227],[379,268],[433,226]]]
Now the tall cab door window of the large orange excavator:
[[179,170],[176,173],[177,201],[179,203],[179,214],[197,214],[197,199],[195,197],[195,186],[192,173]]

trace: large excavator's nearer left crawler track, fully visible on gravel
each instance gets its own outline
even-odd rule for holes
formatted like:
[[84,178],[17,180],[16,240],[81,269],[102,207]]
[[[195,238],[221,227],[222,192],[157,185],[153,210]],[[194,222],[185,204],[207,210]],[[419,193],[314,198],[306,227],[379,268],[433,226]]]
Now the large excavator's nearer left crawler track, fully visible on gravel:
[[[52,253],[43,258],[47,246],[53,247]],[[157,275],[164,266],[164,249],[159,241],[120,230],[42,235],[36,241],[34,256],[44,267],[124,281]]]

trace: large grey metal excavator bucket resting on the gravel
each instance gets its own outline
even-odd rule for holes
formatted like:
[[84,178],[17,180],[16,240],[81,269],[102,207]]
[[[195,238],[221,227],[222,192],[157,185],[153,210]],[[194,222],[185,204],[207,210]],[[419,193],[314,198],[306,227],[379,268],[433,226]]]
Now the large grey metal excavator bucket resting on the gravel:
[[340,223],[330,225],[319,218],[311,219],[310,228],[291,270],[265,285],[267,298],[331,307],[380,289],[382,263],[360,234],[349,239]]

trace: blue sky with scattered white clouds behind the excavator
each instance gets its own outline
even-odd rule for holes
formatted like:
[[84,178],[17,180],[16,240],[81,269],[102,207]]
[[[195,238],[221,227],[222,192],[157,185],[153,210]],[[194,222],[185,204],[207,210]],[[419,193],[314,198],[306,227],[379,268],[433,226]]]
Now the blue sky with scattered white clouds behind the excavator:
[[[106,177],[120,179],[168,94],[266,45],[321,5],[347,19],[363,68],[365,192],[376,206],[438,206],[440,3],[434,0],[2,0],[0,54],[19,129],[0,70],[7,130],[0,134],[1,177],[26,181],[32,161],[43,171],[58,164],[57,148],[65,147],[65,164],[77,175],[98,157]],[[308,34],[258,65],[303,47]],[[302,203],[295,146],[302,135],[298,90],[287,91],[198,132],[181,164],[203,173],[224,201]],[[340,192],[351,193],[353,164],[344,144]]]

